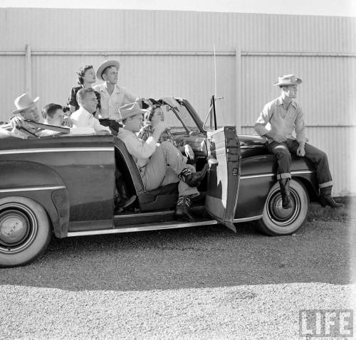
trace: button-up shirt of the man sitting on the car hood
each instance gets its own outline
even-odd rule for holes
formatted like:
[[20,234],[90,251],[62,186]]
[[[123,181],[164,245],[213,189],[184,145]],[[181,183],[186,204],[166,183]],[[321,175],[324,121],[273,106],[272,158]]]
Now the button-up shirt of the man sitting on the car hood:
[[[268,102],[263,107],[256,121],[255,129],[260,136],[271,131],[288,139],[297,139],[299,143],[305,143],[308,140],[305,135],[302,108],[292,100],[286,109],[283,105],[282,97]],[[294,131],[296,138],[293,135]],[[269,137],[267,138],[269,142],[273,140]]]

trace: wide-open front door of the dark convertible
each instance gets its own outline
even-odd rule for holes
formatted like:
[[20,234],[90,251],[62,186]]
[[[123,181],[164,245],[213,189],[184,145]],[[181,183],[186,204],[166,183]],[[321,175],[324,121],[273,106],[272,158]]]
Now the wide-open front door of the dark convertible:
[[240,178],[240,144],[235,127],[208,132],[209,177],[206,211],[236,231],[233,221]]

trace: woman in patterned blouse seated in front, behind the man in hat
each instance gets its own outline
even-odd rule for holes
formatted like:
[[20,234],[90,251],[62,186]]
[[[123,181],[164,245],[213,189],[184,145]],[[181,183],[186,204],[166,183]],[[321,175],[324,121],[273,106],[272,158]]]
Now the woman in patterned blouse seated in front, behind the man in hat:
[[[150,106],[144,115],[143,126],[140,129],[140,132],[137,133],[137,137],[146,141],[148,137],[152,136],[153,131],[155,130],[155,126],[158,122],[164,121],[164,113],[162,111],[162,107],[159,104],[155,104]],[[161,134],[158,142],[162,143],[164,141],[169,141],[174,144],[174,147],[177,147],[182,154],[185,154],[188,159],[194,161],[194,152],[192,147],[189,144],[178,144],[170,132],[170,129],[167,129],[165,132]]]

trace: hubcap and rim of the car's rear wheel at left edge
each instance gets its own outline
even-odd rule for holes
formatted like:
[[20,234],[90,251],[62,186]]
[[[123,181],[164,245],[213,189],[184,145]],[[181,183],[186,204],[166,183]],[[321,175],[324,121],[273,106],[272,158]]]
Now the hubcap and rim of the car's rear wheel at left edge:
[[36,216],[21,203],[0,207],[0,253],[18,253],[30,245],[37,233]]

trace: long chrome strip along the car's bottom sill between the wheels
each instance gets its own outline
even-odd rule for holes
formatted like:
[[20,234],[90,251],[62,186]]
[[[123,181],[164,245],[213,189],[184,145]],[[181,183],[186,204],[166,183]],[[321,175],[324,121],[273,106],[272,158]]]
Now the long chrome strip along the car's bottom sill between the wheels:
[[86,235],[100,235],[100,234],[116,234],[116,233],[132,233],[134,231],[147,231],[147,230],[164,230],[173,228],[187,228],[187,227],[197,227],[199,225],[213,225],[218,224],[215,220],[201,221],[194,223],[172,223],[168,225],[145,225],[143,227],[132,227],[132,228],[115,228],[115,229],[103,229],[103,230],[88,230],[88,231],[70,231],[68,232],[68,238],[73,236],[86,236]]

